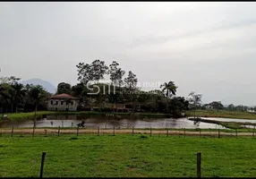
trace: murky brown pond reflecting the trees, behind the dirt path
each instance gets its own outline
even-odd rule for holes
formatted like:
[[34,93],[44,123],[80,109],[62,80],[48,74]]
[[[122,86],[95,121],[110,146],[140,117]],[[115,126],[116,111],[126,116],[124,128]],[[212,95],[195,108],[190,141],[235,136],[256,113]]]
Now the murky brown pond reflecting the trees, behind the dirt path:
[[[210,118],[217,120],[217,118]],[[226,120],[226,119],[225,119]],[[228,119],[227,119],[228,120]],[[236,120],[236,119],[235,119]],[[127,128],[186,128],[186,129],[226,129],[218,124],[195,123],[187,118],[141,118],[134,119],[129,117],[116,119],[113,116],[98,115],[47,115],[46,118],[37,120],[37,127],[76,127],[77,124],[85,122],[86,128],[106,128],[110,129],[115,126],[116,129]],[[252,121],[251,121],[252,122]],[[256,120],[255,120],[256,123]],[[2,127],[28,128],[33,127],[33,121],[7,121],[2,123]]]

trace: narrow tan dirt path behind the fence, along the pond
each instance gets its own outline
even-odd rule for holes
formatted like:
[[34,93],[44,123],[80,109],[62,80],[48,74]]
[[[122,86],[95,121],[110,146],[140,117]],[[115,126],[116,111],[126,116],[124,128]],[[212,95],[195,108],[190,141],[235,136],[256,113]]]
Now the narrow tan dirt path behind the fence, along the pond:
[[[12,133],[12,129],[1,129],[2,133]],[[136,129],[133,131],[134,134],[150,134],[150,130],[139,130]],[[13,135],[14,134],[31,134],[33,133],[33,129],[13,129]],[[35,129],[35,134],[57,134],[58,130],[57,129]],[[62,134],[76,134],[77,130],[76,129],[61,129],[60,133]],[[98,129],[79,129],[79,133],[93,133],[97,134]],[[114,130],[113,129],[100,129],[99,134],[104,134],[104,133],[109,133],[113,134]],[[132,129],[116,129],[115,134],[117,133],[130,133],[132,134]],[[157,131],[157,130],[152,130],[152,135],[166,135],[166,131]],[[184,135],[183,131],[168,131],[168,135]],[[193,136],[216,136],[218,137],[218,132],[185,132],[185,135],[193,135]],[[236,136],[235,132],[220,132],[220,136]],[[252,132],[238,132],[237,136],[252,136]]]

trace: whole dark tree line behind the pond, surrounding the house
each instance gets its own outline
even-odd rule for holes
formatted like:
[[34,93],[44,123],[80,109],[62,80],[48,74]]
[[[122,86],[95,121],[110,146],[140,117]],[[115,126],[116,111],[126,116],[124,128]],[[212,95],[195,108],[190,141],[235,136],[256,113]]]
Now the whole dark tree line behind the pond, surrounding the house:
[[[116,61],[107,65],[95,60],[90,64],[76,65],[78,83],[71,85],[60,82],[55,94],[70,94],[79,98],[78,110],[98,110],[106,112],[120,111],[120,105],[126,105],[132,112],[166,113],[180,116],[186,110],[205,109],[201,105],[201,94],[190,93],[188,98],[177,97],[178,87],[175,81],[167,81],[158,89],[144,91],[138,87],[138,78],[132,71],[125,72]],[[124,77],[124,75],[126,77]],[[106,77],[110,82],[102,82]],[[0,78],[1,113],[30,112],[47,109],[47,99],[52,95],[40,85],[21,84],[21,79]],[[101,82],[100,82],[101,81]],[[94,94],[92,94],[94,93]],[[218,101],[209,104],[215,109],[224,109]],[[229,110],[245,110],[248,107],[230,105]],[[122,109],[125,112],[126,109]]]

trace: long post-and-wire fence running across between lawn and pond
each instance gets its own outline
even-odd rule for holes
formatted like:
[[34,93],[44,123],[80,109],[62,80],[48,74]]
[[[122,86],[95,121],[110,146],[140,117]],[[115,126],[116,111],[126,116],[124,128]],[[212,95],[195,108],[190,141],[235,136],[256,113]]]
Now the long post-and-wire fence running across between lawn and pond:
[[[4,134],[4,135],[3,135]],[[120,129],[120,128],[61,128],[60,126],[58,128],[1,128],[0,129],[0,136],[32,136],[35,135],[45,135],[45,136],[63,136],[64,134],[75,134],[76,136],[80,134],[95,134],[95,135],[103,135],[103,134],[111,134],[111,135],[117,135],[117,134],[146,134],[150,137],[152,136],[172,136],[172,135],[182,135],[182,136],[197,136],[197,137],[255,137],[255,128],[248,129],[247,131],[240,132],[239,130],[221,130],[221,129],[135,129],[135,128],[129,128],[129,129]]]

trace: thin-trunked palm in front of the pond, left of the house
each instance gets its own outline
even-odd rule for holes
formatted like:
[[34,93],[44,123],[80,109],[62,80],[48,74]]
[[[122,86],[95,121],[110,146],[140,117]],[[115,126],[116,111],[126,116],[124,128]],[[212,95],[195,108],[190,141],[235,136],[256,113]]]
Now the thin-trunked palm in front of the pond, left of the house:
[[38,103],[46,96],[45,90],[42,86],[32,86],[30,88],[30,98],[33,99],[33,103],[35,104],[35,115],[34,115],[34,127],[36,127],[36,120],[37,120],[37,110],[38,110]]

